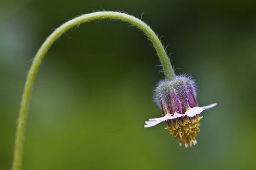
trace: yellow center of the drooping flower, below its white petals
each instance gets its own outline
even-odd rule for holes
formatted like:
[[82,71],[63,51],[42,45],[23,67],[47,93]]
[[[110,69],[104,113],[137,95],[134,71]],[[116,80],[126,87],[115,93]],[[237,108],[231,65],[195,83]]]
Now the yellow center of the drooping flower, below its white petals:
[[196,115],[194,117],[182,116],[176,119],[166,120],[167,127],[173,137],[178,138],[181,143],[184,142],[185,147],[196,144],[195,136],[200,131],[198,123],[203,116]]

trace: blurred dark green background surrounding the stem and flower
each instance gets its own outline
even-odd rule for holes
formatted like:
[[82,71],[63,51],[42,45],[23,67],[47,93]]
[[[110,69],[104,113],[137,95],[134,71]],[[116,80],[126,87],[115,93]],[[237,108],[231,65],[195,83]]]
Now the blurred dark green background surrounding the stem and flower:
[[[198,144],[185,149],[152,102],[163,74],[137,28],[85,23],[47,53],[32,93],[23,170],[250,170],[256,155],[256,2],[179,0],[1,0],[0,170],[12,164],[26,74],[54,28],[79,14],[123,10],[161,37],[177,74],[198,85]],[[180,68],[180,69],[179,69]]]

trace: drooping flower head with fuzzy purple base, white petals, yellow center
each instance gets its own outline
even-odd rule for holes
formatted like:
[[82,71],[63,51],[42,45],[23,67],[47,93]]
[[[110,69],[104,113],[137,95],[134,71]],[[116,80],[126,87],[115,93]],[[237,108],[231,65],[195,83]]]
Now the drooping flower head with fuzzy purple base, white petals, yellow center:
[[195,136],[199,132],[199,114],[217,103],[199,107],[196,102],[195,81],[190,77],[178,76],[172,81],[161,81],[154,91],[154,99],[163,112],[163,117],[145,121],[144,127],[152,127],[166,122],[166,129],[173,137],[184,142],[185,147],[197,144]]

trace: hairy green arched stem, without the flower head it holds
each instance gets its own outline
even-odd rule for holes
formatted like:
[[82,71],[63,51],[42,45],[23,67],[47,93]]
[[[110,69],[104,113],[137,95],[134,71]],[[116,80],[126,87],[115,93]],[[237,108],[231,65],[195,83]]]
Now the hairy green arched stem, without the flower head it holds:
[[21,100],[20,106],[20,113],[17,125],[17,132],[16,132],[16,140],[15,140],[15,155],[13,160],[13,170],[20,170],[22,164],[22,156],[23,156],[23,141],[24,141],[24,132],[26,126],[26,119],[27,119],[27,112],[29,107],[29,99],[32,92],[33,83],[35,81],[36,74],[38,72],[38,68],[41,64],[42,59],[44,58],[45,54],[55,42],[58,37],[61,36],[64,32],[68,31],[70,28],[78,26],[81,23],[99,20],[99,19],[112,19],[112,20],[121,20],[127,23],[131,23],[137,28],[140,28],[151,40],[154,48],[157,51],[158,57],[160,62],[163,66],[163,71],[166,75],[166,79],[171,80],[175,78],[175,73],[172,70],[172,65],[169,61],[169,58],[166,55],[166,51],[163,48],[162,43],[160,42],[157,35],[154,31],[143,21],[139,20],[136,17],[133,17],[128,14],[120,13],[120,12],[112,12],[112,11],[102,11],[102,12],[94,12],[90,14],[81,15],[80,17],[76,17],[73,20],[64,23],[59,28],[57,28],[43,43],[41,48],[39,49],[38,53],[33,60],[33,63],[30,67],[28,77],[26,79],[25,88],[23,91],[23,96]]

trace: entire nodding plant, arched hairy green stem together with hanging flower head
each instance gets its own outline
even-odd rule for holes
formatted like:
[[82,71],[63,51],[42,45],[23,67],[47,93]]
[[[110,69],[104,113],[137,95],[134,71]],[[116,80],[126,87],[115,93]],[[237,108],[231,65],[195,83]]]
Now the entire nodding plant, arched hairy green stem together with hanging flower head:
[[158,84],[154,91],[154,98],[157,105],[162,108],[163,117],[149,119],[149,121],[145,122],[146,125],[144,125],[144,127],[152,127],[160,122],[166,122],[166,129],[169,130],[174,137],[179,139],[180,145],[181,142],[185,143],[185,147],[196,144],[195,136],[197,132],[199,132],[198,122],[202,118],[199,114],[205,109],[214,107],[216,103],[209,106],[198,107],[194,80],[186,76],[175,75],[175,71],[172,68],[169,57],[167,56],[165,48],[163,47],[159,37],[150,28],[150,26],[144,23],[141,19],[124,12],[97,11],[90,14],[83,14],[62,24],[60,27],[55,29],[49,37],[47,37],[35,55],[26,78],[21,99],[12,170],[21,170],[22,167],[23,145],[29,110],[29,100],[35,82],[35,77],[45,54],[47,54],[47,51],[52,44],[71,28],[78,27],[81,23],[101,19],[120,20],[127,22],[132,26],[136,26],[148,37],[148,40],[152,42],[152,45],[157,52],[166,80],[161,81]]

